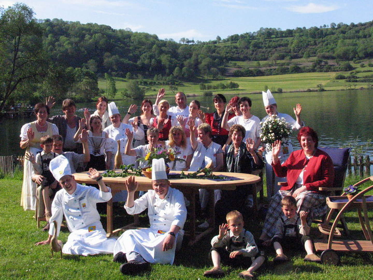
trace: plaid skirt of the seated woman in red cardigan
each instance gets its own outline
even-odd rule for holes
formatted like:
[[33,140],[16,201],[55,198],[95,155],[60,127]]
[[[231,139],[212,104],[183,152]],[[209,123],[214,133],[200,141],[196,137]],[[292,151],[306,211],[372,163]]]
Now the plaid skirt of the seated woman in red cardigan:
[[[282,216],[281,200],[284,196],[292,195],[293,192],[298,189],[293,187],[291,190],[279,190],[274,196],[272,196],[266,219],[264,220],[262,233],[267,234],[269,237],[275,235],[275,225],[278,219]],[[301,192],[297,198],[297,213],[304,210],[308,212],[307,223],[311,225],[314,217],[320,217],[327,212],[326,196],[320,193],[306,190]]]

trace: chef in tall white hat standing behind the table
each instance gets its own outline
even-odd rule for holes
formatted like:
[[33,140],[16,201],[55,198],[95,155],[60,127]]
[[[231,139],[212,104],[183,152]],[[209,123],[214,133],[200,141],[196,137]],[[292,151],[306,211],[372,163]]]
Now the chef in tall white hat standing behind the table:
[[[132,127],[131,124],[123,124],[120,120],[120,113],[115,105],[115,102],[110,102],[108,106],[109,110],[109,118],[112,122],[111,125],[106,127],[104,129],[104,132],[106,132],[110,139],[113,139],[115,141],[115,144],[113,146],[113,155],[116,154],[118,150],[117,140],[120,140],[120,153],[122,156],[122,162],[125,165],[129,164],[135,164],[136,163],[136,157],[135,156],[128,156],[124,153],[126,143],[127,143],[127,136],[126,136],[126,128],[128,128],[131,132],[134,133],[134,139],[135,140],[142,140],[144,138],[144,130],[141,128],[138,128],[137,123],[134,124],[134,127]],[[114,167],[114,156],[112,157],[112,162],[110,163],[110,169]]]

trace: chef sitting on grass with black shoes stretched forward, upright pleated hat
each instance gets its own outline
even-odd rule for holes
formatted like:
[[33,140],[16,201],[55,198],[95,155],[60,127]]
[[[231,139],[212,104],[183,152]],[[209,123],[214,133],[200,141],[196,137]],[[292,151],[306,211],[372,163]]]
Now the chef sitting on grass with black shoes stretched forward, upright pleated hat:
[[123,263],[119,268],[123,274],[139,273],[148,269],[149,263],[172,264],[176,246],[182,242],[184,196],[170,187],[164,159],[153,159],[152,179],[153,190],[135,201],[135,177],[126,180],[128,197],[124,208],[131,215],[148,208],[150,228],[126,230],[115,243],[114,261]]

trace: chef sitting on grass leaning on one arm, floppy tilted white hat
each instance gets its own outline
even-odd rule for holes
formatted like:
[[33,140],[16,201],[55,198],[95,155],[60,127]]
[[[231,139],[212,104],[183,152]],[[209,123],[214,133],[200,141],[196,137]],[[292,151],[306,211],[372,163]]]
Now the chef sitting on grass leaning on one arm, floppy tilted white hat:
[[[65,215],[71,233],[63,245],[63,253],[83,256],[113,253],[115,239],[106,238],[96,209],[97,202],[106,202],[112,198],[112,193],[105,186],[100,172],[91,168],[88,175],[97,181],[100,187],[100,190],[97,190],[95,187],[76,183],[71,175],[69,161],[63,155],[52,159],[49,169],[63,189],[56,193],[52,202],[48,239],[35,245],[49,244],[55,230],[58,236]],[[57,228],[54,228],[53,221],[57,222]]]

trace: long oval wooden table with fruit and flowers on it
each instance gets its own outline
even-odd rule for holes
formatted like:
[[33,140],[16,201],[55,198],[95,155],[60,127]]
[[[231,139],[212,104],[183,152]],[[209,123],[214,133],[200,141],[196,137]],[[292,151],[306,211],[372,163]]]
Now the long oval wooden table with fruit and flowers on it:
[[[181,171],[172,171],[171,174],[177,173],[180,174]],[[193,173],[192,171],[184,171],[185,174]],[[209,191],[209,201],[214,201],[214,190],[235,190],[236,186],[241,185],[247,185],[247,184],[254,184],[260,181],[260,177],[256,175],[251,174],[245,174],[245,173],[231,173],[231,172],[214,172],[214,175],[225,175],[225,176],[231,176],[236,177],[241,180],[231,180],[231,181],[214,181],[209,179],[170,179],[171,187],[180,190],[185,196],[188,197],[190,201],[190,208],[188,214],[190,215],[192,227],[189,231],[191,242],[189,242],[189,245],[192,245],[198,240],[200,240],[203,236],[206,236],[206,234],[211,233],[213,230],[215,230],[214,225],[214,207],[209,207],[209,217],[212,218],[212,223],[210,224],[210,227],[203,231],[202,233],[196,234],[196,217],[195,217],[195,196],[198,193],[198,189],[206,189]],[[80,172],[73,174],[75,177],[75,180],[78,183],[86,183],[86,184],[97,184],[95,180],[92,180],[88,177],[88,172]],[[116,193],[120,192],[121,190],[126,190],[126,186],[124,184],[124,181],[128,177],[104,177],[103,180],[107,186],[109,186],[112,189],[112,195],[115,196]],[[147,191],[152,189],[151,185],[151,179],[147,177],[135,177],[136,182],[138,183],[138,191]],[[124,228],[128,228],[131,226],[137,226],[138,225],[138,216],[135,216],[134,223],[126,225],[123,228],[119,228],[116,230],[113,230],[113,200],[110,199],[107,202],[107,233],[113,234],[117,231],[120,231]]]

